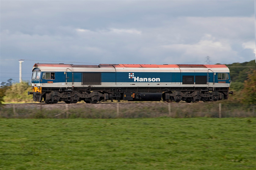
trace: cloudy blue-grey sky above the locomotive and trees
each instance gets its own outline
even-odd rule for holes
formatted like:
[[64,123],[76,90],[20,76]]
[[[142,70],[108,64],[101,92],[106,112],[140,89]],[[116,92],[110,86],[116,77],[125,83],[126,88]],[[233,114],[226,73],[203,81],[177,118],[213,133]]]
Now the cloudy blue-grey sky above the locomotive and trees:
[[[34,63],[231,64],[255,59],[253,0],[0,1],[0,82]],[[207,56],[208,60],[207,60]]]

